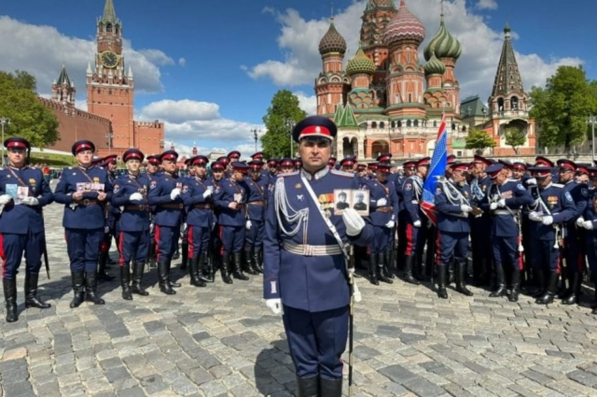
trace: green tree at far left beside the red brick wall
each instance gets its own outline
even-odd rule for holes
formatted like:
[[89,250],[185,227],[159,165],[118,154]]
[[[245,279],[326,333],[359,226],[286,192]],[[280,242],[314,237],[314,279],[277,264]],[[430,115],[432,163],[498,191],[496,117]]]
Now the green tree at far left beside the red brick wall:
[[45,148],[59,139],[58,120],[39,102],[35,77],[17,71],[14,75],[0,71],[0,115],[10,118],[4,138],[22,136],[32,146]]

